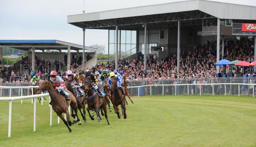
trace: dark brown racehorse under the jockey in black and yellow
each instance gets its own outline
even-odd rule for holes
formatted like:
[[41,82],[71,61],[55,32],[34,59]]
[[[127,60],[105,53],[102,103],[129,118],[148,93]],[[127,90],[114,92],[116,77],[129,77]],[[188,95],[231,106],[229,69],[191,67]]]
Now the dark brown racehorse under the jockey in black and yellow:
[[[87,105],[88,105],[87,111],[89,113],[91,120],[94,120],[94,117],[90,113],[90,110],[93,110],[97,114],[98,122],[101,121],[101,118],[99,115],[99,108],[102,107],[104,110],[104,113],[105,113],[104,115],[105,115],[106,121],[108,122],[108,125],[110,125],[109,120],[108,120],[108,115],[106,114],[106,99],[99,98],[98,94],[96,94],[96,92],[94,92],[89,79],[84,79],[83,88],[87,95],[87,97],[86,97],[86,101],[87,101]],[[101,114],[103,115],[102,111],[101,111]]]

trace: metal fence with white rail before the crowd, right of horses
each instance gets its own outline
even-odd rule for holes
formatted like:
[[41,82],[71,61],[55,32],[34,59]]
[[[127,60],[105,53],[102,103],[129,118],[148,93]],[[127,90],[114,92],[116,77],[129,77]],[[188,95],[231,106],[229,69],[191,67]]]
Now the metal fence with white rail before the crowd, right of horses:
[[202,94],[254,96],[255,85],[255,77],[131,81],[129,93],[131,96]]

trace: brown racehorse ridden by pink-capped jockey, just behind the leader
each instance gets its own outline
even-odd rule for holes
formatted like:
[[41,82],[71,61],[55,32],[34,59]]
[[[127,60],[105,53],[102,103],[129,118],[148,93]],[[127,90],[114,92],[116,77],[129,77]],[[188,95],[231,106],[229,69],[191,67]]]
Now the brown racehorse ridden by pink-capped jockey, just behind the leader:
[[[73,90],[71,82],[68,80],[65,81],[65,85],[66,85],[67,90],[69,90],[75,96],[78,109],[82,115],[82,119],[83,119],[84,123],[87,123],[87,120],[86,120],[86,94],[84,93],[83,96],[80,96],[79,94],[77,94]],[[83,109],[83,112],[81,111],[81,108]],[[71,116],[75,118],[73,111],[72,111]]]

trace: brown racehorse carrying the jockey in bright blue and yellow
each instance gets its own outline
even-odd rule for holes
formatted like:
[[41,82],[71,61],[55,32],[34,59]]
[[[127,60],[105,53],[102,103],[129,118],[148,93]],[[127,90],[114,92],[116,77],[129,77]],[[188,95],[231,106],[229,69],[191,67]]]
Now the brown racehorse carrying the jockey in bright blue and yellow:
[[125,95],[122,94],[121,90],[119,90],[119,87],[117,86],[117,79],[113,78],[111,81],[112,85],[112,95],[111,95],[111,102],[114,106],[114,109],[116,111],[118,119],[120,119],[120,112],[118,106],[121,105],[121,108],[124,112],[123,118],[127,118],[126,114],[126,108],[125,108]]

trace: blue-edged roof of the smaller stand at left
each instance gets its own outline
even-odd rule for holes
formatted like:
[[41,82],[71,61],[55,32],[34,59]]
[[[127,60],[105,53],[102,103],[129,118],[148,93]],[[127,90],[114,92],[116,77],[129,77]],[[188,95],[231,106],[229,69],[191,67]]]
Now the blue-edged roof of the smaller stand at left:
[[[82,45],[59,41],[59,40],[0,40],[0,47],[11,47],[28,51],[31,48],[35,49],[52,49],[52,50],[67,50],[68,46],[71,50],[81,50]],[[84,49],[97,51],[96,48],[84,46]]]

